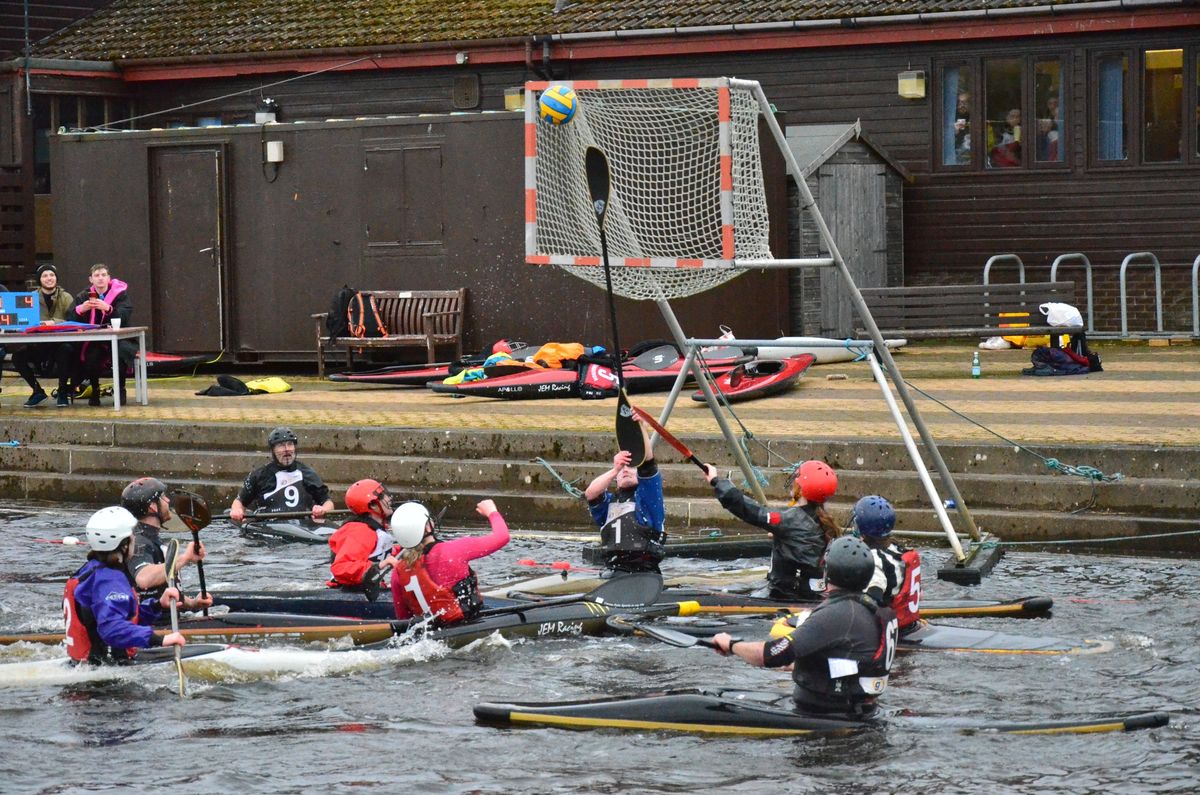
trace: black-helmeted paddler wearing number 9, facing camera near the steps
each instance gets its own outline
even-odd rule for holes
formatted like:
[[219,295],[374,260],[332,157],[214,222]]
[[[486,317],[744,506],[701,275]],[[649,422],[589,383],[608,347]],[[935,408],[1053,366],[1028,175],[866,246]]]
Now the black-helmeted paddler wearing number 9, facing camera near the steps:
[[276,428],[266,435],[271,460],[250,474],[229,506],[229,519],[242,521],[247,509],[265,513],[312,510],[313,521],[323,521],[334,509],[329,488],[312,467],[296,459],[299,438],[290,428]]

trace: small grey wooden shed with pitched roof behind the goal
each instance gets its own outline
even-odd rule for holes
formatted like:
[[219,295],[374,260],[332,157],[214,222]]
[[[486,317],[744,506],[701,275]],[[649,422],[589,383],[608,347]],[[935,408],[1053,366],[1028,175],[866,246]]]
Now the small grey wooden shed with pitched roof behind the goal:
[[[863,132],[848,124],[790,125],[787,145],[808,181],[838,249],[859,287],[904,283],[904,184],[908,172]],[[790,195],[792,257],[828,252],[811,216]],[[853,315],[842,281],[832,269],[791,274],[792,328],[798,334],[846,337]]]

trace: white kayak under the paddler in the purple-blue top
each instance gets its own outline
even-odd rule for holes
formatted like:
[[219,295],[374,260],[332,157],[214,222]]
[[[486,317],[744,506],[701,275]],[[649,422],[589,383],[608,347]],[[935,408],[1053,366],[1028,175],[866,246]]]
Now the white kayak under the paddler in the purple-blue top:
[[[188,644],[184,647],[184,673],[202,681],[248,681],[287,675],[330,676],[376,670],[400,659],[418,659],[432,650],[422,644],[386,650],[256,648],[224,644]],[[61,650],[55,648],[58,654]],[[66,656],[0,664],[0,687],[74,685],[134,679],[149,669],[169,670],[174,676],[174,650],[142,650],[130,665],[74,665]]]

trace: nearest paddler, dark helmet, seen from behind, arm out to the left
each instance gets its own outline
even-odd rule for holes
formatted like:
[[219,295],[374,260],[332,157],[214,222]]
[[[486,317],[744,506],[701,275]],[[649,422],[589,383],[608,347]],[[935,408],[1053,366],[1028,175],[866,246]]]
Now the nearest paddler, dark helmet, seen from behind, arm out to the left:
[[793,665],[796,709],[809,715],[866,718],[887,688],[899,627],[890,608],[863,593],[875,573],[875,557],[862,540],[845,536],[826,552],[827,598],[786,638],[736,640],[713,636],[718,653],[737,654],[751,665]]

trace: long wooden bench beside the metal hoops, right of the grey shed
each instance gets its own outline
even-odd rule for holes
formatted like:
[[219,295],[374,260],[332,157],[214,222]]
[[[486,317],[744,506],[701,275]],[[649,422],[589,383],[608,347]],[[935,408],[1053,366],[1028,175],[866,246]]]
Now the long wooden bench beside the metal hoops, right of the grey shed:
[[[886,337],[931,340],[954,336],[1049,334],[1057,346],[1060,334],[1082,331],[1082,325],[1046,325],[1038,309],[1048,301],[1075,303],[1075,282],[1025,285],[936,285],[931,287],[868,287],[862,289],[875,324]],[[1028,317],[1001,317],[1026,312]],[[1028,323],[1028,325],[1020,325]],[[865,330],[859,321],[859,339]]]

